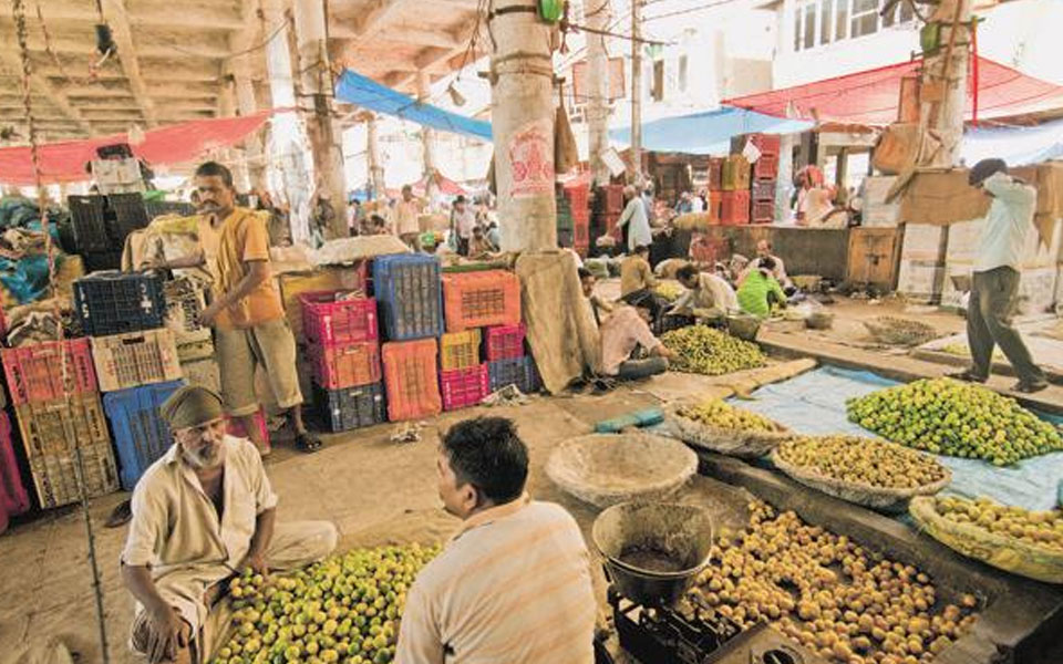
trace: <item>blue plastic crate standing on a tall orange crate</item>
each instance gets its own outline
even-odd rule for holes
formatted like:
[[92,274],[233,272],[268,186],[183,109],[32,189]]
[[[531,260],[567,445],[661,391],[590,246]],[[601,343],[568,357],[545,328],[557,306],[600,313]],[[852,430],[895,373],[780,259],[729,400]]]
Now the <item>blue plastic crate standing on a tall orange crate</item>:
[[396,253],[374,258],[373,293],[386,339],[443,334],[443,288],[436,257]]

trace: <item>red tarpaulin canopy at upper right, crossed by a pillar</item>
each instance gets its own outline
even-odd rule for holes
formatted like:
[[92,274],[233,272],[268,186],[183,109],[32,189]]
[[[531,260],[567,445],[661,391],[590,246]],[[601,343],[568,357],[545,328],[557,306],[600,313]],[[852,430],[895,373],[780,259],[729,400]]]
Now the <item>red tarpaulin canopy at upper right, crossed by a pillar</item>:
[[[922,60],[902,62],[723,103],[776,117],[787,117],[786,108],[793,104],[795,118],[816,120],[818,115],[822,121],[887,125],[897,121],[900,80],[918,75],[921,65]],[[969,82],[968,120],[973,116],[972,87]],[[978,58],[978,117],[1004,117],[1059,107],[1063,107],[1063,86]]]

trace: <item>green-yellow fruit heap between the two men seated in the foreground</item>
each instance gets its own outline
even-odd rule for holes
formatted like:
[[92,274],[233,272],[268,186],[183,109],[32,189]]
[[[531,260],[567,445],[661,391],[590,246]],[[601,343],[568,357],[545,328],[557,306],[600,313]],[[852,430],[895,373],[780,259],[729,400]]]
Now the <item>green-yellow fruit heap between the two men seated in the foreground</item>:
[[245,571],[229,584],[233,632],[214,664],[391,662],[406,590],[438,550],[357,549],[268,579]]

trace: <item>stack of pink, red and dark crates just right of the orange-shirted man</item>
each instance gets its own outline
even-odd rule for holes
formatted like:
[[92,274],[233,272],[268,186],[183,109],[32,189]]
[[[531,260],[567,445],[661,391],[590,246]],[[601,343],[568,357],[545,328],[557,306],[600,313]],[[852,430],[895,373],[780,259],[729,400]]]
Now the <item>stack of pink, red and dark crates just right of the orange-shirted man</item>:
[[312,366],[313,404],[327,428],[384,421],[376,300],[361,293],[301,293],[302,331]]

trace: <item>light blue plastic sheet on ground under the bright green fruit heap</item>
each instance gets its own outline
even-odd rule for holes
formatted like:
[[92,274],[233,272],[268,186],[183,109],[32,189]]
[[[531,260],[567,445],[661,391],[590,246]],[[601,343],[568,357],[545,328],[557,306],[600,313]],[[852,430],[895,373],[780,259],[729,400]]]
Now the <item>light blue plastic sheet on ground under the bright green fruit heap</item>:
[[[898,385],[867,371],[823,366],[783,383],[765,385],[752,393],[753,401],[734,401],[737,406],[761,413],[799,434],[871,435],[848,421],[845,402]],[[1053,424],[1063,418],[1038,413]],[[1056,505],[1063,480],[1063,452],[1025,459],[998,468],[985,461],[938,456],[952,470],[947,492],[976,498],[988,496],[1003,505],[1046,510]]]

